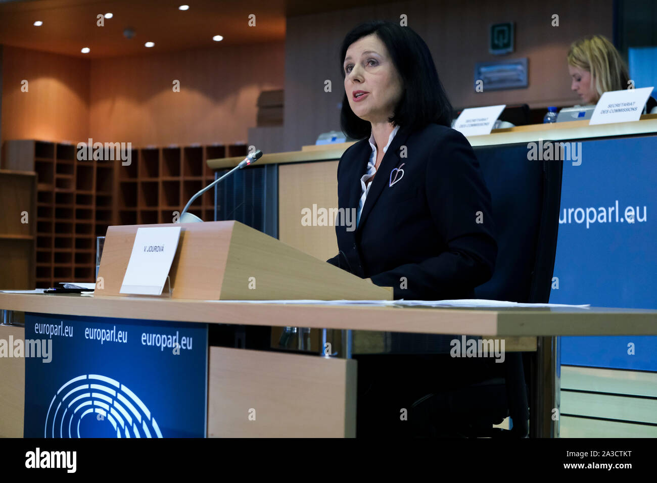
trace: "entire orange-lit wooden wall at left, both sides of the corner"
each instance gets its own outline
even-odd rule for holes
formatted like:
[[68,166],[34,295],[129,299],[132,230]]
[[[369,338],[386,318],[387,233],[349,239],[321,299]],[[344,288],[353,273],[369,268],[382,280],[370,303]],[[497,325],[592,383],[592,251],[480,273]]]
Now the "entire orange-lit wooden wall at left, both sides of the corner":
[[2,62],[2,141],[246,143],[260,92],[284,83],[283,43],[95,60],[4,46]]

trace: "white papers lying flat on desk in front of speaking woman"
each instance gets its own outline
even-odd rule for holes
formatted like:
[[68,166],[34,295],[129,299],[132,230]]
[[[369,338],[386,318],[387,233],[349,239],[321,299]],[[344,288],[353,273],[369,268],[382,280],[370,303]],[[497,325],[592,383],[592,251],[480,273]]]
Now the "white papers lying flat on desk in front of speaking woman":
[[212,300],[230,304],[299,304],[299,305],[359,305],[378,307],[465,307],[465,308],[508,308],[508,307],[570,307],[589,308],[585,305],[566,304],[521,304],[518,302],[505,302],[503,300],[483,300],[480,298],[463,298],[457,300]]

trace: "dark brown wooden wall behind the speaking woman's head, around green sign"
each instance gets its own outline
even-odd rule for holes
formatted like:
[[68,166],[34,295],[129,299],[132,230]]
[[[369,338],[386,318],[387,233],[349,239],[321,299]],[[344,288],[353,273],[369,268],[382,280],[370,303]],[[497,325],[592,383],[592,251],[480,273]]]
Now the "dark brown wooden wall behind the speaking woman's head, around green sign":
[[[447,95],[457,108],[528,103],[531,108],[579,102],[570,91],[566,55],[572,41],[602,34],[612,39],[612,0],[461,1],[417,0],[359,7],[288,18],[285,40],[285,149],[314,144],[319,133],[340,129],[344,81],[340,76],[340,43],[359,22],[399,20],[426,41]],[[559,26],[551,26],[552,15]],[[515,51],[488,53],[488,28],[515,22]],[[529,58],[529,87],[476,93],[474,64],[500,58]],[[319,60],[319,61],[318,61]],[[324,91],[325,80],[332,92]]]

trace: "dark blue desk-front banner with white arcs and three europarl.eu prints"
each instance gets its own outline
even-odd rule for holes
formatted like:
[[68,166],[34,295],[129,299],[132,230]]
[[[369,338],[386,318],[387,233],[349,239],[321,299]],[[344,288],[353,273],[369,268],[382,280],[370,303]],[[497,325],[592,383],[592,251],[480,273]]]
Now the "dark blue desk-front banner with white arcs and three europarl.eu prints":
[[[26,438],[206,436],[208,326],[26,313]],[[50,343],[50,342],[49,342]]]

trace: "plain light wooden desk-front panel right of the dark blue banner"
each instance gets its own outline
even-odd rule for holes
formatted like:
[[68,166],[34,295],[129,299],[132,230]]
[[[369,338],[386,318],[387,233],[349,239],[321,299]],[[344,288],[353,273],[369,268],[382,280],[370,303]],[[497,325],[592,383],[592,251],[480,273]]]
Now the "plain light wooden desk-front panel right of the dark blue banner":
[[354,359],[210,347],[209,365],[210,438],[355,436]]

